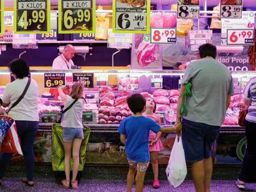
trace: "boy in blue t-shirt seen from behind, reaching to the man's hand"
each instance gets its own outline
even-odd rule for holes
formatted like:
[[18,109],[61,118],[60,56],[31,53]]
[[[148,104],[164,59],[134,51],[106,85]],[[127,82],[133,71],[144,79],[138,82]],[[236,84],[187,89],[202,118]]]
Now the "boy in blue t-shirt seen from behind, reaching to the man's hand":
[[146,100],[141,94],[129,96],[127,104],[130,111],[132,111],[132,116],[122,120],[118,128],[118,132],[121,133],[121,143],[126,146],[127,159],[130,166],[127,175],[127,191],[132,191],[134,176],[137,172],[135,178],[136,192],[141,192],[143,191],[144,177],[150,161],[148,148],[150,130],[155,133],[158,133],[158,131],[170,133],[181,130],[182,125],[179,123],[177,127],[162,128],[155,121],[142,116],[143,111],[145,111]]

